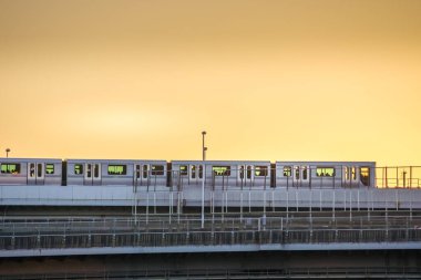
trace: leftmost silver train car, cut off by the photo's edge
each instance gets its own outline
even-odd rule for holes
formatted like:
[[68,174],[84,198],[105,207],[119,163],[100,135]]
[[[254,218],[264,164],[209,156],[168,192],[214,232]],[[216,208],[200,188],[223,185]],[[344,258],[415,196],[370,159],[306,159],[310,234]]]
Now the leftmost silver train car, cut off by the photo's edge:
[[61,185],[57,158],[0,158],[0,185]]

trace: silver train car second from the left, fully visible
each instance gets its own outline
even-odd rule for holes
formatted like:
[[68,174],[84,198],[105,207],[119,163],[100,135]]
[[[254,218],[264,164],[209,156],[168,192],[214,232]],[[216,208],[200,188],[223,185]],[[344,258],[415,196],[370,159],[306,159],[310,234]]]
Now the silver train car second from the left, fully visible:
[[165,160],[68,159],[65,163],[66,185],[167,189]]

